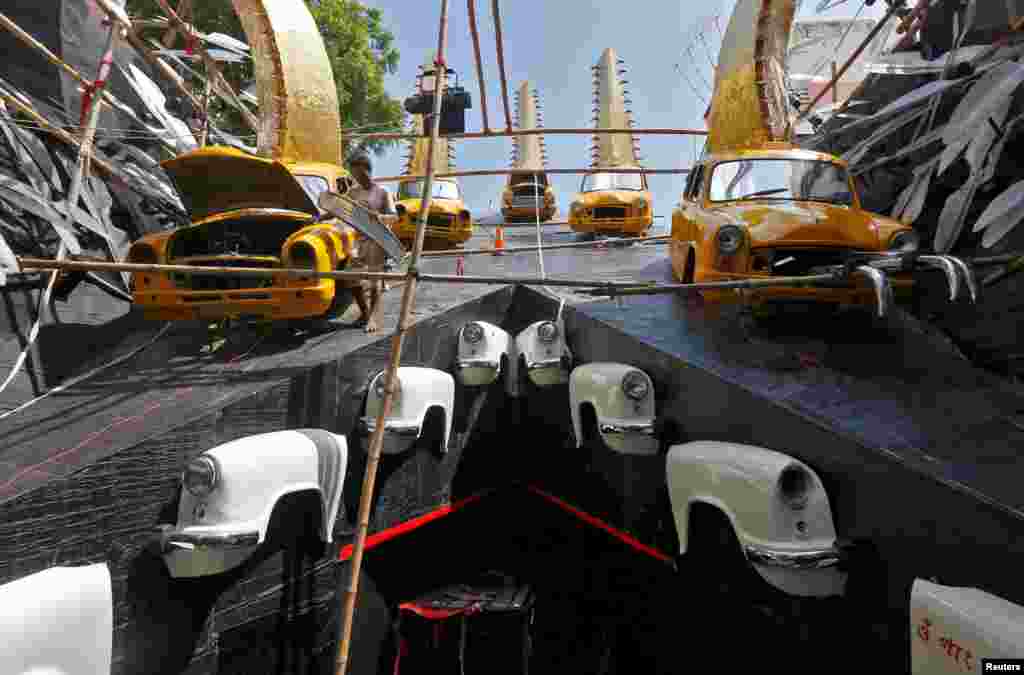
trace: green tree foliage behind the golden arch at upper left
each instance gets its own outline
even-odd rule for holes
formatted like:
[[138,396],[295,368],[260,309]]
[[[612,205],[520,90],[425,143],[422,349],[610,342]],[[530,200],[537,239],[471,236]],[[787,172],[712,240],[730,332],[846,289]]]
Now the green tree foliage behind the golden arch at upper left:
[[[168,0],[177,8],[179,0]],[[398,49],[394,36],[385,28],[381,11],[367,7],[357,0],[305,0],[319,28],[334,71],[338,89],[338,107],[344,129],[398,131],[403,112],[401,102],[384,90],[384,76],[398,68]],[[205,33],[224,33],[246,41],[245,31],[234,14],[229,0],[193,0],[191,22]],[[157,0],[131,0],[128,8],[135,16],[157,17],[164,12]],[[154,34],[160,39],[162,36]],[[176,45],[181,48],[181,42]],[[201,69],[197,69],[200,70]],[[222,65],[225,77],[236,86],[252,78],[252,65]],[[229,108],[222,103],[211,107],[211,117],[225,130],[249,135],[248,128]],[[369,141],[358,145],[346,143],[351,153],[362,149],[380,155],[393,144],[389,141]]]

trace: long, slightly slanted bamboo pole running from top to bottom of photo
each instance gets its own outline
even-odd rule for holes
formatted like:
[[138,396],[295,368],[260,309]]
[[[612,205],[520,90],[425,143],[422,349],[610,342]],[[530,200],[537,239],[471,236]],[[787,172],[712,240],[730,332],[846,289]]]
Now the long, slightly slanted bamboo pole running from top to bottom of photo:
[[[437,30],[437,56],[434,59],[436,65],[437,80],[435,91],[440,94],[444,90],[446,79],[444,53],[447,43],[447,10],[449,0],[441,0],[441,15]],[[367,460],[367,471],[362,480],[362,491],[359,495],[358,529],[355,534],[355,546],[352,551],[352,563],[349,572],[348,593],[345,595],[344,621],[342,624],[341,640],[338,647],[338,669],[337,675],[345,675],[348,666],[348,655],[351,647],[352,623],[355,618],[355,598],[359,585],[359,573],[362,568],[362,554],[366,551],[367,533],[370,529],[370,506],[373,503],[374,486],[377,479],[377,466],[380,462],[381,448],[384,442],[384,420],[391,413],[391,404],[394,398],[395,380],[398,375],[398,365],[401,363],[401,347],[406,331],[412,319],[413,305],[416,302],[417,278],[419,275],[418,265],[420,254],[423,252],[423,241],[426,237],[427,216],[430,213],[430,205],[433,193],[434,179],[434,146],[440,135],[441,123],[441,101],[443,96],[434,96],[434,111],[431,118],[430,140],[427,145],[427,176],[423,185],[423,210],[420,213],[420,222],[416,228],[416,240],[413,243],[413,257],[409,265],[409,281],[402,288],[401,307],[398,312],[398,325],[395,327],[394,337],[391,343],[391,361],[388,364],[385,378],[384,400],[381,403],[380,414],[377,416],[377,424],[374,426],[373,435],[370,442],[370,457]]]

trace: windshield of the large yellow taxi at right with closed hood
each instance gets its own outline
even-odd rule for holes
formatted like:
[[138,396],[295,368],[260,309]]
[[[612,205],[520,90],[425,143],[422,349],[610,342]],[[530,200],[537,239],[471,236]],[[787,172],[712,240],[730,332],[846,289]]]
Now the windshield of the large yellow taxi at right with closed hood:
[[850,206],[845,168],[822,160],[756,159],[722,162],[711,177],[711,201],[785,200]]

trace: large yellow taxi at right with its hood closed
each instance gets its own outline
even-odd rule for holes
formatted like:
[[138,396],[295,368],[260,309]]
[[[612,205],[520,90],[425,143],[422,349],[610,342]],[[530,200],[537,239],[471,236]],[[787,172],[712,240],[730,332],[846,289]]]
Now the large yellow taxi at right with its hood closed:
[[[860,207],[845,162],[785,143],[714,154],[690,171],[672,214],[673,276],[681,283],[800,277],[843,265],[858,253],[913,253],[918,234]],[[912,285],[890,277],[893,291]],[[869,279],[835,287],[743,291],[762,300],[872,304]],[[732,291],[702,291],[711,300]]]

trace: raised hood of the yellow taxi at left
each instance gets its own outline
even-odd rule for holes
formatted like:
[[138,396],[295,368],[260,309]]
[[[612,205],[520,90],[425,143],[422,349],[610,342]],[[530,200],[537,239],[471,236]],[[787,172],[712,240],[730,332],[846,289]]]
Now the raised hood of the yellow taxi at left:
[[193,221],[259,207],[318,213],[287,166],[233,147],[204,147],[161,166],[177,186]]

